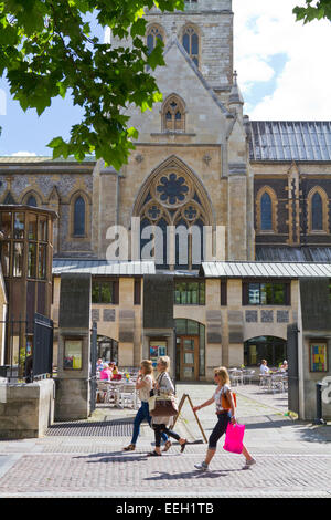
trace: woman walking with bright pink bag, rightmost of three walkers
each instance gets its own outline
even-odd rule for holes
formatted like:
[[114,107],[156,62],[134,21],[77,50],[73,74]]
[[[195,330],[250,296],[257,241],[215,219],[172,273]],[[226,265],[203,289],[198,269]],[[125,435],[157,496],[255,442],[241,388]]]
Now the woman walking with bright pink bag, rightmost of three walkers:
[[[195,406],[193,408],[194,412],[197,412],[205,406],[210,406],[211,404],[216,404],[216,414],[217,414],[217,424],[214,427],[212,435],[209,439],[209,448],[205,456],[205,459],[201,464],[194,465],[196,469],[201,471],[207,471],[209,465],[216,453],[216,445],[223,434],[226,433],[226,428],[228,423],[231,422],[233,425],[236,424],[235,417],[235,403],[229,387],[229,377],[227,370],[224,366],[220,368],[215,368],[214,381],[217,384],[216,392],[214,393],[213,397],[200,406]],[[228,403],[228,406],[225,407],[225,403]],[[223,403],[222,403],[223,402]],[[224,406],[224,407],[223,407]],[[243,447],[243,455],[246,459],[246,464],[243,469],[249,469],[256,461],[249,455],[245,446]]]

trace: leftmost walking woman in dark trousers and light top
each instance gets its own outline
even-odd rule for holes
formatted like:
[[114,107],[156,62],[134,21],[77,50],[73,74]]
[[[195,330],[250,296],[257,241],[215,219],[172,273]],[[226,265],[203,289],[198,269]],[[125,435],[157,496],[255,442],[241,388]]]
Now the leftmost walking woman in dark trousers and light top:
[[[151,426],[151,416],[149,415],[148,399],[150,396],[150,391],[153,387],[152,372],[153,372],[152,362],[149,360],[142,361],[139,376],[136,383],[136,389],[139,393],[141,406],[138,409],[135,422],[134,422],[134,434],[132,434],[131,443],[129,444],[129,446],[126,446],[124,448],[124,451],[134,451],[136,449],[136,443],[140,434],[140,425],[143,419],[146,419],[149,426]],[[163,451],[168,451],[168,449],[171,446],[170,440],[168,440],[168,435],[162,434],[162,439],[166,443]]]

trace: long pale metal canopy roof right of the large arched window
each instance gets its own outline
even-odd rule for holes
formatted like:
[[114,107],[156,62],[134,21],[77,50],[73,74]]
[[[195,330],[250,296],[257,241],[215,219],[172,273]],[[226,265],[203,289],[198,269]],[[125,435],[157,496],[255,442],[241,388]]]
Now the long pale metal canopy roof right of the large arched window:
[[331,263],[202,262],[205,278],[331,278]]

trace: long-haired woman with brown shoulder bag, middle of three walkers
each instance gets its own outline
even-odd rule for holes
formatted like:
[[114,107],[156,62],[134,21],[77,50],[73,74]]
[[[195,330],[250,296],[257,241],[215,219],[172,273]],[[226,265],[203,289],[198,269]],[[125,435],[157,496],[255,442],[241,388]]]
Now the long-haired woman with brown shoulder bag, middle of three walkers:
[[[174,387],[172,381],[168,374],[170,367],[170,360],[168,356],[159,357],[157,370],[158,370],[158,377],[154,383],[154,389],[160,391],[163,394],[173,395]],[[156,434],[156,449],[148,454],[151,457],[160,457],[161,456],[161,435],[167,434],[169,437],[172,437],[179,441],[181,445],[181,453],[184,451],[188,440],[183,439],[178,435],[175,431],[169,429],[172,426],[173,417],[153,417],[152,418],[152,427]],[[169,441],[170,443],[170,441]],[[170,443],[171,446],[171,443]],[[168,448],[169,449],[169,448]],[[163,450],[164,451],[164,450]]]

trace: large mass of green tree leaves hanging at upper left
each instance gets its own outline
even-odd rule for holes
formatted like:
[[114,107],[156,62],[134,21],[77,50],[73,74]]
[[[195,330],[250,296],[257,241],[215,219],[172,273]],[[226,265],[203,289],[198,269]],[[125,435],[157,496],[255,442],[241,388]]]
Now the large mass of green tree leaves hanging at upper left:
[[[124,108],[145,111],[161,100],[149,71],[164,65],[163,45],[158,41],[149,54],[142,39],[143,13],[152,7],[182,10],[184,0],[0,0],[0,77],[14,100],[41,115],[53,97],[70,94],[83,108],[71,138],[49,144],[54,158],[95,154],[116,169],[127,162],[138,133],[128,128]],[[92,34],[92,17],[132,44],[100,42]]]

